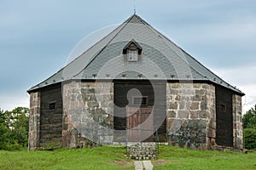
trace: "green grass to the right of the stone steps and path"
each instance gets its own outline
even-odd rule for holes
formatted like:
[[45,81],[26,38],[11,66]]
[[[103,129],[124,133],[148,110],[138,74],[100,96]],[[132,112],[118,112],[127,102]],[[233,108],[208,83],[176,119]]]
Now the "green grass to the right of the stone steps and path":
[[160,146],[159,159],[153,161],[157,169],[256,169],[256,152],[220,152],[186,150]]

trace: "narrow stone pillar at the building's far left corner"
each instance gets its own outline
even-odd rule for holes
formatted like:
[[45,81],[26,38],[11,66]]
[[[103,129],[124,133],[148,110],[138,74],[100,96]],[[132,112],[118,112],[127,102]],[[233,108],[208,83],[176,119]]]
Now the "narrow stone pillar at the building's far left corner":
[[40,126],[40,93],[30,94],[30,115],[29,115],[29,150],[36,150],[39,146]]

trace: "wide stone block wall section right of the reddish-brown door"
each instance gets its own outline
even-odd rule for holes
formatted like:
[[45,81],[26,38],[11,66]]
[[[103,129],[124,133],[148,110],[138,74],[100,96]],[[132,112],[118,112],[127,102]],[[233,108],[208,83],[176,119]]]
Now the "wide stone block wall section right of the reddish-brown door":
[[168,83],[166,86],[168,142],[207,150],[215,144],[215,88],[207,83]]

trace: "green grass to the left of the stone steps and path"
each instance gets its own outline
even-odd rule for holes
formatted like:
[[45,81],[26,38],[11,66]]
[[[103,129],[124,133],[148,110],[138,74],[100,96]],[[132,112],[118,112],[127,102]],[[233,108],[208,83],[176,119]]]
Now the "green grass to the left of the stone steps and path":
[[134,169],[125,147],[55,151],[0,150],[0,169]]

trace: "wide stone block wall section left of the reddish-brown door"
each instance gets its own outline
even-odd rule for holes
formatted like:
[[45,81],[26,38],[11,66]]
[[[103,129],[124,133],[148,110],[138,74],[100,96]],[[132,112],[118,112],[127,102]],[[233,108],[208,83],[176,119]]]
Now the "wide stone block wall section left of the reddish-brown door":
[[63,146],[113,143],[113,82],[63,85]]

